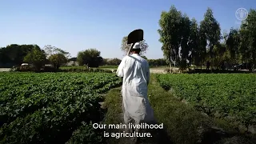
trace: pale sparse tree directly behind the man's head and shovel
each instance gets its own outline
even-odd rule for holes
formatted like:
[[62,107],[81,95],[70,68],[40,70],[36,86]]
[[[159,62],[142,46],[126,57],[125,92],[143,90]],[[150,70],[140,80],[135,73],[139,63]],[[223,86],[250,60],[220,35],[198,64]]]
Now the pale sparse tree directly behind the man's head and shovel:
[[[122,38],[121,50],[124,52],[124,54],[128,53],[128,51],[130,49],[130,45],[131,45],[131,44],[129,44],[129,45],[127,44],[127,40],[128,40],[127,38],[128,38],[127,36]],[[140,54],[146,54],[146,50],[148,50],[148,48],[149,48],[148,44],[146,43],[145,40],[142,40],[139,43],[140,43],[141,49],[142,49]]]

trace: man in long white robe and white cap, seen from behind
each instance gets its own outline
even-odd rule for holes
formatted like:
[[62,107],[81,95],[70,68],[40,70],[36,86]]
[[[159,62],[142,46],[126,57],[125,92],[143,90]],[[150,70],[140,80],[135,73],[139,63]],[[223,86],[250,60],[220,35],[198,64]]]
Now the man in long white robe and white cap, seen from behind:
[[[117,75],[122,81],[122,109],[124,122],[128,125],[141,122],[154,122],[154,112],[147,98],[147,89],[150,82],[150,66],[139,53],[140,44],[135,43],[132,53],[122,59],[118,66]],[[138,131],[138,130],[136,130]]]

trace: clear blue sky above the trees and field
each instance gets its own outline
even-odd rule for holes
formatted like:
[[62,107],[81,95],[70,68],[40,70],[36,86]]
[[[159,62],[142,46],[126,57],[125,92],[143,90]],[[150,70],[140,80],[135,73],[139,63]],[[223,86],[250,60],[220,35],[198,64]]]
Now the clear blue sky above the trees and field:
[[222,31],[240,25],[238,8],[256,9],[254,0],[0,0],[0,47],[51,45],[72,57],[95,48],[102,58],[123,58],[122,38],[142,29],[145,56],[163,58],[158,22],[172,5],[198,22],[210,7]]

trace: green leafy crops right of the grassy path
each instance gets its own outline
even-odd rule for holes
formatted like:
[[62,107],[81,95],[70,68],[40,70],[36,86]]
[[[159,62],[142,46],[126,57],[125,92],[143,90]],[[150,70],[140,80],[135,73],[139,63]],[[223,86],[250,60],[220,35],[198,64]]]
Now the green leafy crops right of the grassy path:
[[158,82],[198,110],[256,125],[256,74],[158,74]]

